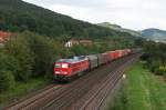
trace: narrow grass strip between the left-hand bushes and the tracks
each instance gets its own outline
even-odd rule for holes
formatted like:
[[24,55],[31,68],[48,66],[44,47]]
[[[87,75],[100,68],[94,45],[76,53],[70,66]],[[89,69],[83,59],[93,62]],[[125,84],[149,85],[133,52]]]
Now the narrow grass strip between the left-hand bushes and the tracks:
[[49,83],[44,78],[31,79],[27,83],[15,82],[15,87],[1,92],[0,93],[0,103],[4,103],[7,101],[12,100],[13,98],[20,98],[21,96],[25,96],[28,92],[32,90],[40,89]]

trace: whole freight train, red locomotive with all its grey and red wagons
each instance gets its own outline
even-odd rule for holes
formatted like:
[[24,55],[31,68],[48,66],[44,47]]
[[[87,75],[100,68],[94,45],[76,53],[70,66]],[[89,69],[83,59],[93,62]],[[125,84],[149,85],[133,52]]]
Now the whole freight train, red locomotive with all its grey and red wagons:
[[55,81],[70,81],[74,76],[82,76],[85,71],[93,70],[136,51],[138,50],[123,49],[98,54],[73,57],[72,59],[60,59],[53,64],[53,78]]

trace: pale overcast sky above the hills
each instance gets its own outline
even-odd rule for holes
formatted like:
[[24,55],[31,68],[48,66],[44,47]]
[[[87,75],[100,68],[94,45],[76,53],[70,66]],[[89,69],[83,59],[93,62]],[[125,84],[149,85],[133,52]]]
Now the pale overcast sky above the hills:
[[24,0],[92,23],[166,30],[166,0]]

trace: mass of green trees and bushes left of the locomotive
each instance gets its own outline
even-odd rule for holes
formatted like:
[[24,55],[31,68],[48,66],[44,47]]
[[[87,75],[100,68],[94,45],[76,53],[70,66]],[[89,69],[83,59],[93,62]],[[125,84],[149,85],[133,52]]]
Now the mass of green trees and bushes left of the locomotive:
[[0,90],[15,81],[52,76],[52,63],[70,52],[59,41],[31,32],[15,33],[0,49]]

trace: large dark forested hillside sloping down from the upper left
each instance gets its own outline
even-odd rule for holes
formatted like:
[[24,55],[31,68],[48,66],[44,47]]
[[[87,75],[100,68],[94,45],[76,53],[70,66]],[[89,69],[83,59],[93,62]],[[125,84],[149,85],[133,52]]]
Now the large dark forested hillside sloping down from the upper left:
[[29,30],[50,37],[128,37],[126,32],[83,22],[71,17],[24,2],[0,0],[0,30],[20,32]]

